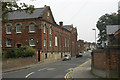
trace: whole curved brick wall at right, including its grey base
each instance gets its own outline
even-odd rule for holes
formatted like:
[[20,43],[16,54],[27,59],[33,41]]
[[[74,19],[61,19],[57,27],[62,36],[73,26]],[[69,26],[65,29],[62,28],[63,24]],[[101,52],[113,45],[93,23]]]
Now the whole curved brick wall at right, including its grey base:
[[120,46],[93,50],[91,71],[102,78],[120,78]]

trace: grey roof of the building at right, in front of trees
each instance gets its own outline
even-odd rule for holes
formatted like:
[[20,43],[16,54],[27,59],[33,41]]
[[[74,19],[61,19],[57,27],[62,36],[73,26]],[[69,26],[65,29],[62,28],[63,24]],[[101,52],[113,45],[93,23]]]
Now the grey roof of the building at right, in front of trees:
[[120,29],[120,25],[107,25],[106,30],[107,30],[107,35],[110,34],[115,34],[116,31]]

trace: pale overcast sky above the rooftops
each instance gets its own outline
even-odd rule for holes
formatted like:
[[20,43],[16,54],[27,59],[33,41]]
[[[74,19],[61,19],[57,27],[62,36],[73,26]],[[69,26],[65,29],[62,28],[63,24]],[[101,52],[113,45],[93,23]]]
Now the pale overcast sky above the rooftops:
[[[106,13],[118,11],[120,0],[20,0],[35,8],[50,6],[56,23],[63,21],[63,25],[71,25],[77,28],[78,40],[95,42],[98,37],[96,23]],[[19,3],[18,2],[18,3]],[[98,39],[98,38],[97,38]]]

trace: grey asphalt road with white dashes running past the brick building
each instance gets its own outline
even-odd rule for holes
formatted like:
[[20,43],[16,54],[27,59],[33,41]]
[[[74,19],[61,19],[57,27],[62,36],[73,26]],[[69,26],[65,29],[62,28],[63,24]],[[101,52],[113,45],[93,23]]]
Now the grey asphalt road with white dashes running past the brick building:
[[2,75],[3,78],[64,78],[71,69],[79,66],[88,59],[90,53],[85,53],[83,57],[72,58],[69,61],[57,61],[50,64],[39,65],[28,69],[8,72]]

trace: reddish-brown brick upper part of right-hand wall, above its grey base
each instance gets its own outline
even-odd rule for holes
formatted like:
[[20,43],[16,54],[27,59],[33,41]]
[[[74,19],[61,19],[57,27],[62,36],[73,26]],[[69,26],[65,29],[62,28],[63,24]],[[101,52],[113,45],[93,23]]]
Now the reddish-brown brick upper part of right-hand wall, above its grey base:
[[99,69],[119,69],[120,46],[108,46],[104,50],[94,50],[92,65]]

